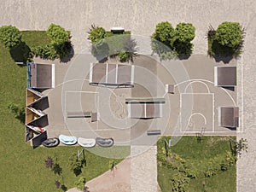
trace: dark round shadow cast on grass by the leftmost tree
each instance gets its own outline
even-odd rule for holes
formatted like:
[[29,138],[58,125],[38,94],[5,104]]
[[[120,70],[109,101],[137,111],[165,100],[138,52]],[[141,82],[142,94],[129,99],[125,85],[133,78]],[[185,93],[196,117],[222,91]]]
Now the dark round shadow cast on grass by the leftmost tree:
[[[27,61],[30,61],[32,58],[31,49],[29,48],[29,46],[26,45],[25,42],[21,42],[17,46],[11,48],[9,52],[15,62],[26,63]],[[22,65],[20,66],[22,67]]]

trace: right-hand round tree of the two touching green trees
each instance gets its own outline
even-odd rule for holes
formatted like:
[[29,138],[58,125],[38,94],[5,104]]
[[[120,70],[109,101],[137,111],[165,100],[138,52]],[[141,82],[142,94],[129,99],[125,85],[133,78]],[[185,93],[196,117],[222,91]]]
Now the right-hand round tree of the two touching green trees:
[[195,38],[195,26],[191,23],[179,23],[175,28],[175,38],[180,42],[189,43]]

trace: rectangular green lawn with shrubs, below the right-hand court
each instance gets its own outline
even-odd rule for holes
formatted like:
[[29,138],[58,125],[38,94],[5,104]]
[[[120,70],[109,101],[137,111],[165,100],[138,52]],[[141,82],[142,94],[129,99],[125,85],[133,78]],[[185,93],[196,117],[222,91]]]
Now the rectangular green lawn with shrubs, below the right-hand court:
[[[168,141],[168,137],[167,141]],[[232,137],[235,139],[235,137]],[[163,137],[158,141],[158,154],[165,148]],[[178,158],[185,161],[188,169],[194,170],[195,178],[189,177],[189,192],[234,192],[236,191],[236,166],[231,165],[227,171],[221,171],[218,160],[226,158],[226,151],[230,151],[229,137],[202,137],[201,143],[197,143],[196,137],[182,137],[180,141],[171,147],[171,153],[178,154]],[[173,159],[177,158],[172,156]],[[177,158],[177,159],[178,159]],[[177,160],[170,160],[175,161]],[[215,164],[214,164],[215,161]],[[216,164],[217,162],[217,164]],[[175,163],[174,163],[175,164]],[[205,172],[208,167],[217,165],[218,171],[211,177],[206,177]],[[179,167],[183,172],[183,168]],[[177,174],[177,169],[163,166],[158,159],[158,183],[162,192],[172,191],[172,178]],[[188,178],[188,177],[187,177]],[[205,183],[205,190],[203,189]]]

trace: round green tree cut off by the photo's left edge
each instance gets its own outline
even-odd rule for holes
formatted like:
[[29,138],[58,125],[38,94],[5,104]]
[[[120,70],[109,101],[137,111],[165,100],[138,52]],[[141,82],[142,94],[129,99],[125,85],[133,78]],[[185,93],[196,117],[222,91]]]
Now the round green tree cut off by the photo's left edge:
[[5,48],[13,48],[20,44],[21,32],[15,26],[1,26],[0,42]]

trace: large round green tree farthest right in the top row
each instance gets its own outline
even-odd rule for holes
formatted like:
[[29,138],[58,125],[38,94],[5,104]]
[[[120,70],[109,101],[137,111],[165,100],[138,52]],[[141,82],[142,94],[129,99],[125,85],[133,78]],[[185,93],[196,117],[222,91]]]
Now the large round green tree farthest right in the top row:
[[216,30],[218,44],[235,49],[241,44],[242,30],[237,22],[223,22]]

